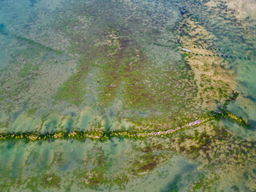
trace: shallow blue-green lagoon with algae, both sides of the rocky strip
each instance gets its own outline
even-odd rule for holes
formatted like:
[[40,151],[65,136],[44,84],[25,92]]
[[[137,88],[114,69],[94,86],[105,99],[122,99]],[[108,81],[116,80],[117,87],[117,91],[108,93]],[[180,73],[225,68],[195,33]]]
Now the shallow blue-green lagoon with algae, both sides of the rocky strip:
[[[242,92],[242,98],[232,102],[227,109],[245,118],[250,129],[225,121],[219,122],[219,126],[254,145],[254,25],[248,22],[250,36],[245,38],[243,29],[232,22],[226,23],[226,14],[222,11],[212,14],[208,8],[204,10],[206,6],[199,1],[1,1],[1,79],[9,81],[2,80],[7,84],[1,90],[1,95],[5,96],[1,99],[1,132],[128,130],[133,126],[152,130],[166,126],[161,124],[166,122],[166,117],[171,117],[168,126],[178,126],[176,123],[181,119],[188,121],[186,118],[203,114],[206,109],[193,105],[197,90],[191,78],[193,73],[186,69],[178,45],[173,41],[173,29],[182,19],[182,9],[189,10],[206,30],[215,35],[213,47],[217,52],[222,48],[226,50],[225,54],[250,58],[226,59],[228,68],[236,72],[237,90]],[[198,12],[198,9],[202,11]],[[110,56],[104,50],[109,42],[112,43],[107,50]],[[94,55],[97,50],[106,55]],[[119,63],[118,59],[111,58],[115,54],[120,63],[126,63],[125,59],[128,59],[127,63],[135,63],[128,69],[143,72],[130,72],[128,66],[121,65],[111,68],[113,63]],[[130,61],[132,57],[134,60]],[[88,65],[86,78],[81,78],[79,73],[83,68],[78,66],[84,62],[92,64]],[[107,68],[110,71],[104,70]],[[66,86],[62,85],[71,85],[72,75],[81,81],[74,85],[76,88],[80,89],[81,85],[82,89],[83,85],[86,88],[85,92],[78,91],[70,98],[65,92]],[[120,75],[126,80],[118,78]],[[145,86],[140,78],[147,84],[152,82],[151,87],[168,82],[173,84],[167,94],[163,94],[166,86],[140,92]],[[142,84],[134,86],[134,82]],[[130,85],[135,88],[130,89]],[[190,90],[185,91],[187,87]],[[123,91],[129,94],[122,94]],[[136,97],[139,99],[134,102]],[[130,104],[123,106],[122,101]],[[82,104],[79,106],[79,103]],[[155,119],[160,120],[154,122]],[[216,176],[210,176],[211,171],[222,175],[232,166],[219,166],[222,162],[205,165],[204,158],[192,158],[193,155],[182,151],[177,154],[174,148],[155,148],[153,143],[171,143],[168,139],[1,142],[1,188],[5,191],[200,191],[204,186],[203,189],[209,191],[255,190],[255,182],[251,181],[255,176],[253,161],[242,171],[235,170],[237,172],[227,174],[226,179],[219,181],[214,178]],[[235,149],[231,147],[231,150]],[[229,155],[228,152],[225,154]],[[214,170],[215,166],[219,170]],[[198,184],[200,182],[203,184]]]

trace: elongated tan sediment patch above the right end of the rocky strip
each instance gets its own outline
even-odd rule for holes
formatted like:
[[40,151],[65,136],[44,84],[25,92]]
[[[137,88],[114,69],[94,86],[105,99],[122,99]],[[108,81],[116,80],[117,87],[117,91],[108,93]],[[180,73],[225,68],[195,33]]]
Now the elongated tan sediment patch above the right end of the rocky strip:
[[[186,23],[186,28],[182,27]],[[188,35],[183,35],[182,31]],[[184,53],[185,59],[194,71],[194,79],[198,86],[198,101],[204,108],[210,108],[222,98],[235,90],[236,82],[234,72],[227,70],[227,63],[224,58],[216,57],[210,46],[213,46],[214,35],[210,34],[203,26],[190,18],[184,18],[178,24],[177,36],[182,42],[182,46],[190,53]]]

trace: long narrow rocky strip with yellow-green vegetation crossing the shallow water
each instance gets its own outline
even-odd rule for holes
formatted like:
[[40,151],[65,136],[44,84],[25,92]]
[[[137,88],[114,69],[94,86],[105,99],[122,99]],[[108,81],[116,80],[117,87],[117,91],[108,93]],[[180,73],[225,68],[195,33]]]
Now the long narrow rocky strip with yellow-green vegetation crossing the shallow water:
[[236,122],[240,126],[248,127],[249,125],[242,119],[238,118],[234,114],[222,110],[221,113],[212,112],[213,115],[206,118],[198,118],[193,122],[189,122],[184,126],[177,126],[174,129],[169,130],[158,130],[158,131],[130,131],[130,130],[116,130],[116,131],[98,131],[98,130],[91,130],[91,131],[71,131],[71,132],[54,132],[54,133],[46,133],[40,134],[37,132],[18,132],[18,133],[2,133],[0,134],[0,141],[4,140],[26,140],[26,142],[34,142],[34,141],[46,141],[46,140],[56,140],[56,139],[75,139],[78,141],[83,141],[86,138],[90,138],[91,140],[99,140],[105,141],[106,139],[110,138],[146,138],[146,137],[165,137],[174,133],[177,130],[186,129],[190,126],[199,126],[205,122],[209,122],[212,120],[219,120],[221,118],[228,119],[231,122]]

